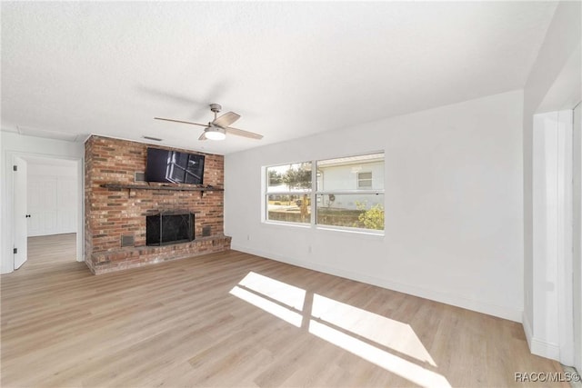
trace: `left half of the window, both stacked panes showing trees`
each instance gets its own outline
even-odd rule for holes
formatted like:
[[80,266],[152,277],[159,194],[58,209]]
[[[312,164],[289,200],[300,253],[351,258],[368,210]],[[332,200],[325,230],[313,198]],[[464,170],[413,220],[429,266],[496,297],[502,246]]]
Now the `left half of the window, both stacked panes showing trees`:
[[311,162],[266,168],[266,220],[311,223]]

